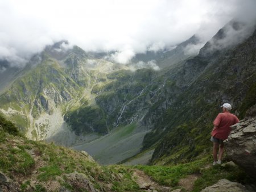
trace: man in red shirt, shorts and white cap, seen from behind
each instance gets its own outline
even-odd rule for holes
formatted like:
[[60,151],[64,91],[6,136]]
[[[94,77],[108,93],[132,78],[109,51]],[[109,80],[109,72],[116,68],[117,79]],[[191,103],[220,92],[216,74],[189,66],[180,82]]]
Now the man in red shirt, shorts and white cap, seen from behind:
[[213,165],[221,164],[221,158],[224,153],[223,141],[228,139],[231,131],[230,126],[239,122],[237,116],[230,113],[232,107],[229,103],[224,103],[221,107],[223,112],[219,113],[214,120],[214,128],[211,133],[212,137],[210,138],[213,141]]

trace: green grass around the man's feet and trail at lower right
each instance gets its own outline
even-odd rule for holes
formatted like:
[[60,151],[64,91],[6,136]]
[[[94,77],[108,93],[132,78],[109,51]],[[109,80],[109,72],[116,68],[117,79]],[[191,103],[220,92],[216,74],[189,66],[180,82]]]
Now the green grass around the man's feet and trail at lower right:
[[[225,157],[224,161],[228,161],[228,159]],[[238,166],[212,166],[212,156],[205,156],[200,160],[174,166],[137,165],[135,167],[143,170],[160,185],[171,187],[182,187],[178,186],[180,179],[196,173],[200,177],[194,183],[194,192],[201,191],[224,178],[242,184],[252,182],[249,176]]]

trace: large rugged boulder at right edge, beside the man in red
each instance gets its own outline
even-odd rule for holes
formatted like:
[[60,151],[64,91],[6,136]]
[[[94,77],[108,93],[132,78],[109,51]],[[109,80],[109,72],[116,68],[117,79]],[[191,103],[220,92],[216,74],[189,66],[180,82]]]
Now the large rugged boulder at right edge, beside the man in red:
[[225,141],[226,154],[256,180],[256,116],[249,116],[232,128]]

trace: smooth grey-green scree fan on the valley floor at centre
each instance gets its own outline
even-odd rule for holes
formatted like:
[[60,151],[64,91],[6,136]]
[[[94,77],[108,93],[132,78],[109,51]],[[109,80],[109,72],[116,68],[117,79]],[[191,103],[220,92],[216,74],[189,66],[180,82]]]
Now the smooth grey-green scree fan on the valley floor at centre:
[[[102,165],[116,164],[140,152],[143,137],[147,132],[148,130],[145,128],[133,123],[125,127],[114,128],[108,135],[90,142],[73,145],[72,148],[88,152]],[[146,159],[137,161],[143,164],[142,162],[149,160],[151,155],[152,152],[145,157]]]

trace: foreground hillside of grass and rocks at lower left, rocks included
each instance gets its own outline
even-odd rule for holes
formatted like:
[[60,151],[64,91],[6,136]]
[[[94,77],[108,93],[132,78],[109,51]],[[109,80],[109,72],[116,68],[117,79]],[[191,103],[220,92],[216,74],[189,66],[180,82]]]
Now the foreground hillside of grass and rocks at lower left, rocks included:
[[86,152],[27,140],[10,127],[0,116],[1,191],[139,191],[128,168],[100,166]]

